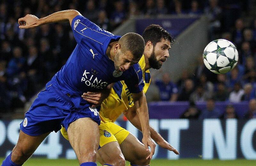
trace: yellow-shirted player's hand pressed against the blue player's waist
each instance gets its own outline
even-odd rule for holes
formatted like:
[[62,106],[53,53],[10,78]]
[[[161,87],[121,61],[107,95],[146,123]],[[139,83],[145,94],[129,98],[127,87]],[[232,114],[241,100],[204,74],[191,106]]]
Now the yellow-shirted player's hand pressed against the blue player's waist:
[[109,93],[107,92],[87,92],[87,93],[83,93],[82,97],[84,100],[92,103],[92,107],[96,107],[101,105],[101,103],[103,102],[103,100],[105,98],[107,98],[109,95]]

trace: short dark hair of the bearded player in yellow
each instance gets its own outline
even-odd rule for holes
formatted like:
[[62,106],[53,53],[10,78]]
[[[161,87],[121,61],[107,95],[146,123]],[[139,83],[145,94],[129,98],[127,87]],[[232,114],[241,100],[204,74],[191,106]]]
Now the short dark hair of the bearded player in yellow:
[[171,44],[174,43],[172,35],[164,30],[160,25],[156,24],[149,25],[144,30],[142,37],[145,40],[145,44],[147,44],[148,41],[151,41],[154,46],[156,43],[160,42],[162,38],[169,40]]

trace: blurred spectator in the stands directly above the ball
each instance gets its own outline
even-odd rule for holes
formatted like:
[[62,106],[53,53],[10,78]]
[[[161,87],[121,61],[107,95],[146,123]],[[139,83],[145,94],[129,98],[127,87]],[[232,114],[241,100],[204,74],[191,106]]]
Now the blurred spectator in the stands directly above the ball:
[[210,22],[208,33],[212,41],[218,38],[216,35],[219,35],[221,29],[222,11],[218,6],[218,0],[210,0],[210,6],[205,8],[204,13]]

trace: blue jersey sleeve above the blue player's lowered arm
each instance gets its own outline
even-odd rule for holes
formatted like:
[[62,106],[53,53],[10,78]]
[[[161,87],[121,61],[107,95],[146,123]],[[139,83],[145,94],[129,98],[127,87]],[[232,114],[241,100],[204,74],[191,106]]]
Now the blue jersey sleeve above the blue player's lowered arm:
[[139,93],[144,87],[142,69],[140,68],[140,65],[136,63],[132,65],[130,70],[130,76],[124,80],[124,83],[131,93]]

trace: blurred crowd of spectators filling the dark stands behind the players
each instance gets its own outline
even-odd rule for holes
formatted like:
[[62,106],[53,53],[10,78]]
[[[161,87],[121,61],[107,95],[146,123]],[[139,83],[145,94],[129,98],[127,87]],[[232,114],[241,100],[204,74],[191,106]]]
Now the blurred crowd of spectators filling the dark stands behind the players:
[[[192,75],[182,72],[178,82],[171,71],[154,80],[159,100],[240,102],[248,101],[256,117],[256,18],[255,0],[6,0],[0,1],[0,111],[23,107],[65,64],[76,46],[70,25],[43,25],[19,29],[18,18],[26,14],[45,17],[53,12],[75,9],[101,28],[113,31],[126,19],[138,16],[157,18],[166,14],[202,15],[209,19],[209,41],[227,39],[239,52],[239,63],[225,75],[205,68],[202,56]],[[255,13],[255,11],[254,11]],[[210,104],[209,104],[210,103]],[[249,105],[249,107],[250,107]],[[234,109],[228,105],[227,110]],[[191,110],[190,110],[191,111]],[[197,110],[198,111],[198,110]],[[253,112],[251,111],[251,112]],[[193,112],[193,109],[192,109]],[[199,112],[199,111],[198,111]],[[209,115],[195,113],[194,117]],[[227,111],[228,112],[228,111]],[[189,114],[190,115],[190,114]],[[216,115],[216,118],[229,115]],[[189,118],[186,112],[182,116]]]

